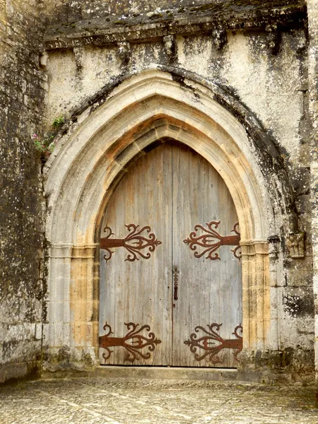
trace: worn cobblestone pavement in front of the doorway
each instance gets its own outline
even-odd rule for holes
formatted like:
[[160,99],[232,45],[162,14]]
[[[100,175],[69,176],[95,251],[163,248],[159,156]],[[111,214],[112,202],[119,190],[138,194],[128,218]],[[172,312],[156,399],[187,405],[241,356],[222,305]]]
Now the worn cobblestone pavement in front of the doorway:
[[0,387],[1,424],[318,423],[313,387],[74,378]]

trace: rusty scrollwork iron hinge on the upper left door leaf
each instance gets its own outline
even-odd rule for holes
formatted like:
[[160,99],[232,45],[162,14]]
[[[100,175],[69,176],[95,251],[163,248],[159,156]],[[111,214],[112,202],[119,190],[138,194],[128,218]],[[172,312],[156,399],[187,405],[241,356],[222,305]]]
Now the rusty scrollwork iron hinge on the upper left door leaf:
[[[139,256],[143,257],[143,259],[149,259],[151,257],[151,252],[155,250],[155,247],[161,245],[161,242],[155,238],[153,232],[151,232],[151,228],[146,225],[146,227],[141,228],[139,230],[139,225],[129,224],[125,225],[128,229],[129,234],[126,235],[124,239],[111,239],[110,236],[114,234],[112,229],[106,225],[104,228],[104,232],[106,232],[106,237],[102,237],[100,239],[100,249],[107,250],[108,255],[104,255],[105,261],[109,261],[112,257],[112,247],[124,247],[128,250],[129,254],[126,257],[125,261],[134,262],[139,261]],[[142,232],[148,232],[150,234],[141,235]],[[143,249],[147,249],[148,252],[145,254],[141,252]]]

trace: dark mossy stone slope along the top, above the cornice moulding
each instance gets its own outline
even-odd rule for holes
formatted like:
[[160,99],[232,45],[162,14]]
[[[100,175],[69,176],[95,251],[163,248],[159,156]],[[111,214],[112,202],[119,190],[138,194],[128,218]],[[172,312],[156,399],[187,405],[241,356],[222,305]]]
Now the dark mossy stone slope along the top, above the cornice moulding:
[[51,24],[76,25],[81,20],[102,18],[110,25],[131,25],[148,19],[173,22],[175,18],[188,18],[201,12],[208,15],[213,13],[219,20],[222,20],[224,13],[228,13],[235,20],[237,13],[251,11],[261,17],[259,9],[264,11],[282,6],[289,10],[304,4],[303,0],[57,0],[48,1],[46,7]]

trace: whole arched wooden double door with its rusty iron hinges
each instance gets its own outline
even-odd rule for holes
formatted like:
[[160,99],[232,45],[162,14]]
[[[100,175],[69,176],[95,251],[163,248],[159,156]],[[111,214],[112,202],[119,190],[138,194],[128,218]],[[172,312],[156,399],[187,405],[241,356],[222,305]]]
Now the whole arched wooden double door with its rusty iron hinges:
[[237,366],[240,233],[207,160],[153,148],[114,190],[100,237],[102,365]]

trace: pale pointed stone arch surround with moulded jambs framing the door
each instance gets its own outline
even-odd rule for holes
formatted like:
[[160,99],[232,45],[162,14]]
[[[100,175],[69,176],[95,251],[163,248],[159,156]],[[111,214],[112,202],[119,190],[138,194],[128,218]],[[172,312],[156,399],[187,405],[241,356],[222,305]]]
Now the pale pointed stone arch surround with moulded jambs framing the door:
[[[275,347],[277,319],[270,312],[275,302],[270,285],[276,284],[276,272],[272,267],[270,273],[268,240],[284,223],[290,204],[288,184],[285,192],[273,184],[281,177],[273,172],[278,163],[273,144],[263,145],[263,155],[272,153],[272,163],[276,160],[269,177],[262,172],[248,125],[220,105],[228,98],[221,101],[211,83],[196,79],[183,78],[180,83],[158,68],[127,78],[77,115],[49,158],[45,193],[47,240],[52,246],[48,331],[52,355],[66,345],[73,347],[73,361],[83,355],[95,361],[96,247],[102,214],[131,161],[165,139],[181,141],[203,155],[228,185],[242,237],[245,348],[265,348],[270,343]],[[254,122],[255,134],[257,125]]]

